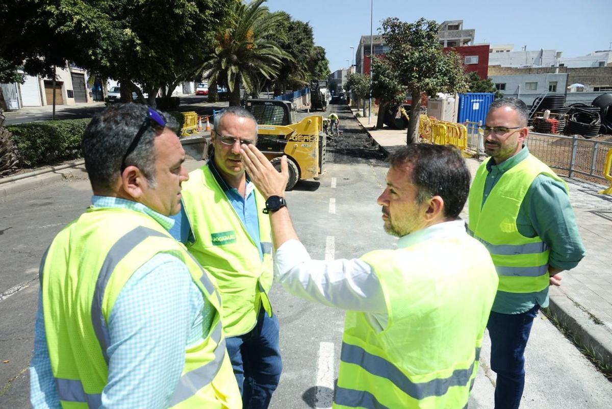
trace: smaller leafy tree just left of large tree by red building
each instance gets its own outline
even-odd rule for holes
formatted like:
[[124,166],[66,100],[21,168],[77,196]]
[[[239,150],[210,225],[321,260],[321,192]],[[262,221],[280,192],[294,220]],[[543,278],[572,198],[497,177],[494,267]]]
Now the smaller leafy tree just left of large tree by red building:
[[384,58],[372,59],[372,97],[379,99],[376,127],[383,128],[384,113],[392,103],[401,102],[406,96],[406,87],[400,83],[398,72]]

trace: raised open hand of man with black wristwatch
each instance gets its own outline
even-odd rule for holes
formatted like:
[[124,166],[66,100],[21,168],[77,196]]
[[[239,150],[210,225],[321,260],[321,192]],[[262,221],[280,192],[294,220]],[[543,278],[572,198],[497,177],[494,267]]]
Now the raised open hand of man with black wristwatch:
[[247,168],[248,176],[265,198],[271,196],[285,197],[285,188],[289,180],[286,156],[283,155],[280,160],[279,173],[264,154],[255,148],[254,144],[242,144],[240,154],[242,162]]

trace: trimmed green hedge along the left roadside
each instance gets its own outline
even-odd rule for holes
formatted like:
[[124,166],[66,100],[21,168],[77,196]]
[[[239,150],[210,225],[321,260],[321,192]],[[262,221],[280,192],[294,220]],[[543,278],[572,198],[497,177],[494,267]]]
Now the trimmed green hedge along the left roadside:
[[21,165],[39,166],[81,157],[81,138],[90,119],[61,119],[7,126]]

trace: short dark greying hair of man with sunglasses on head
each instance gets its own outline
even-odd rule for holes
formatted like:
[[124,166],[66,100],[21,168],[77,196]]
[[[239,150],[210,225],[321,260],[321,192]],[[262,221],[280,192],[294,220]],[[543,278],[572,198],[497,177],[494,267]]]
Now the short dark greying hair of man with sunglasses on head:
[[[147,118],[146,105],[119,103],[110,105],[92,118],[83,132],[81,151],[92,188],[110,189],[121,173],[121,160]],[[166,127],[174,133],[180,129],[170,114],[160,112]],[[159,127],[148,126],[140,142],[125,158],[125,165],[140,169],[151,187],[155,187],[154,140]]]

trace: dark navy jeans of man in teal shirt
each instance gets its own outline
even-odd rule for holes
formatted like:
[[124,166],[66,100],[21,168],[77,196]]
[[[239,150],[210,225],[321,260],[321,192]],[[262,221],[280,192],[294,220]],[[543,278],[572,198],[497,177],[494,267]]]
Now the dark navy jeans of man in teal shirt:
[[525,386],[524,351],[540,306],[520,314],[491,311],[487,329],[491,337],[491,369],[497,373],[495,409],[518,409]]

